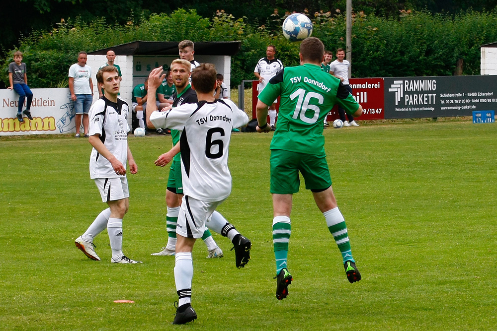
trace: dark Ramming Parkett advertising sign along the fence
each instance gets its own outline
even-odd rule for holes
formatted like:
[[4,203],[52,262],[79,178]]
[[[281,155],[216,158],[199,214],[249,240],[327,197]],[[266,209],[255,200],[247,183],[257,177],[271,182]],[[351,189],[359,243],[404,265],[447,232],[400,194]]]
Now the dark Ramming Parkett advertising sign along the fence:
[[496,76],[385,78],[385,119],[470,116],[495,110]]

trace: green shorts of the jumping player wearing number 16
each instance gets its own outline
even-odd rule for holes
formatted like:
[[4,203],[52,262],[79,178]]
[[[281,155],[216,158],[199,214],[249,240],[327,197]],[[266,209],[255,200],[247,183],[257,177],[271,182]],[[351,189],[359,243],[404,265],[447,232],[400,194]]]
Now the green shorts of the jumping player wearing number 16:
[[299,192],[299,172],[307,190],[326,190],[331,186],[326,155],[313,155],[271,149],[271,193],[294,194]]

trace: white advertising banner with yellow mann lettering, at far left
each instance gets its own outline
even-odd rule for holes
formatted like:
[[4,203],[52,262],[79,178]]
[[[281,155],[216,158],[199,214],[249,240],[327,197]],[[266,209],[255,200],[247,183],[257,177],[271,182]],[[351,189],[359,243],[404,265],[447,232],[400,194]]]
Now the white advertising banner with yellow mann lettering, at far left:
[[[0,135],[50,134],[76,132],[74,102],[69,88],[33,88],[30,121],[16,118],[19,95],[12,90],[0,90]],[[26,100],[22,110],[26,109]]]

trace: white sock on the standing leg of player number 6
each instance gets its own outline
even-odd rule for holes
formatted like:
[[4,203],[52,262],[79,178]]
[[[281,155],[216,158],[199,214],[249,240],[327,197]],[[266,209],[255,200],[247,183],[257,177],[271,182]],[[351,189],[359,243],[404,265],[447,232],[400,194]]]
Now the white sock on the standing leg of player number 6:
[[193,261],[191,253],[176,253],[174,281],[179,296],[178,307],[191,302],[191,280],[193,279]]

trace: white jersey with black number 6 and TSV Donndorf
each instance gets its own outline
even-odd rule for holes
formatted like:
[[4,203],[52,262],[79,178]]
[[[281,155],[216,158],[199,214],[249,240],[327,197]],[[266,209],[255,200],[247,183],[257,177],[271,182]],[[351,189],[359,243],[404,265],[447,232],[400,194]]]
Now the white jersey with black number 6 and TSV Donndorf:
[[201,201],[220,201],[231,193],[228,146],[233,128],[248,123],[245,112],[228,99],[183,104],[167,112],[154,112],[156,128],[181,132],[183,193]]

